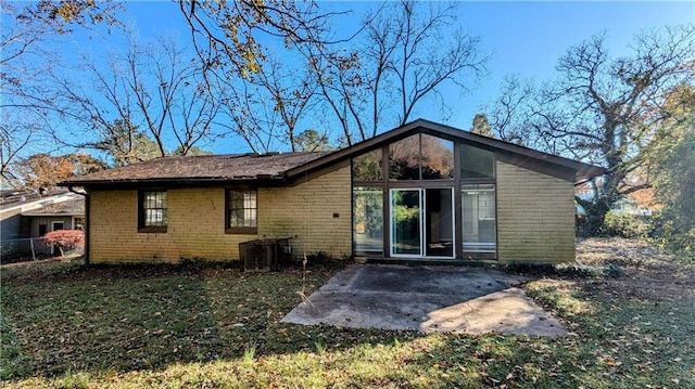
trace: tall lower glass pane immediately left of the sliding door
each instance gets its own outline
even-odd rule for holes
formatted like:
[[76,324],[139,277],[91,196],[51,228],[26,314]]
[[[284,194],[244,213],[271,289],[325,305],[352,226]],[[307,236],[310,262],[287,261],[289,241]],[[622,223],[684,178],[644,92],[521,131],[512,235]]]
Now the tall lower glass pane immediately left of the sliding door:
[[353,207],[355,250],[383,252],[383,190],[354,187]]

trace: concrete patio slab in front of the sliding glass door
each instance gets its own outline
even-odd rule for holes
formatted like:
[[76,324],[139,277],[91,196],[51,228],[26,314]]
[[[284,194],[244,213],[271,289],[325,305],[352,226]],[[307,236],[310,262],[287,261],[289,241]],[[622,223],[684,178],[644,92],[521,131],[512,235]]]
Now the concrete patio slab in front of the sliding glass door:
[[354,264],[282,322],[558,337],[559,321],[518,288],[528,278],[467,267]]

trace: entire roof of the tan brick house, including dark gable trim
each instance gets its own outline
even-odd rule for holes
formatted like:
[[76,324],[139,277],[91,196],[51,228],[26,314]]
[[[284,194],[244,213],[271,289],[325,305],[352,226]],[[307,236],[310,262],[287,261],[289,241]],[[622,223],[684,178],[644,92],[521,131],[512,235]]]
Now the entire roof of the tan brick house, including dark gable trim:
[[494,151],[498,156],[498,160],[549,173],[572,182],[582,182],[604,173],[604,169],[597,166],[418,119],[336,152],[163,157],[75,177],[60,184],[64,186],[117,186],[127,184],[210,184],[243,181],[283,182],[305,172],[334,166],[348,158],[417,132],[431,133],[452,140],[463,140],[472,145]]

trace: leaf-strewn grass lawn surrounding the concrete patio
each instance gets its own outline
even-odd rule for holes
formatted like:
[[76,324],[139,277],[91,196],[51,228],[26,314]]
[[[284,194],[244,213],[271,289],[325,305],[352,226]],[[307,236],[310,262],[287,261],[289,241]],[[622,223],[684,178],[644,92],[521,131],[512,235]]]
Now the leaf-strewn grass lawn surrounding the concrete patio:
[[560,339],[280,324],[331,270],[304,277],[190,264],[2,269],[0,384],[695,387],[693,270],[661,255],[637,263],[616,245],[599,242],[579,257],[626,265],[619,278],[546,275],[525,286],[571,332]]

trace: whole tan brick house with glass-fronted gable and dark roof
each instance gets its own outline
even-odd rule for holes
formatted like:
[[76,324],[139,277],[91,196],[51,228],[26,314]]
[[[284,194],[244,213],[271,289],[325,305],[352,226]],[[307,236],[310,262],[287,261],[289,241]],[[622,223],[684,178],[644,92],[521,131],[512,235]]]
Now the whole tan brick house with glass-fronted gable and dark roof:
[[92,262],[236,260],[239,243],[382,260],[574,259],[574,184],[604,170],[426,120],[332,153],[164,157],[62,183]]

